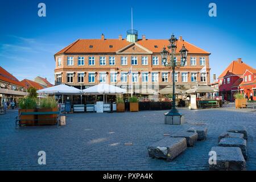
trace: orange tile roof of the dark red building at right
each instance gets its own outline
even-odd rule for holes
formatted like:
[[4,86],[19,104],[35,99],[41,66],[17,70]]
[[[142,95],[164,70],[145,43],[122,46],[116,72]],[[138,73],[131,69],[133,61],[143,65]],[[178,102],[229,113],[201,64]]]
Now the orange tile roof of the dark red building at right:
[[255,72],[254,68],[243,62],[239,63],[239,61],[232,61],[232,63],[229,64],[228,68],[226,68],[225,71],[222,72],[218,78],[222,78],[228,75],[241,76],[243,75],[243,73],[245,73],[246,69],[248,69],[250,72]]

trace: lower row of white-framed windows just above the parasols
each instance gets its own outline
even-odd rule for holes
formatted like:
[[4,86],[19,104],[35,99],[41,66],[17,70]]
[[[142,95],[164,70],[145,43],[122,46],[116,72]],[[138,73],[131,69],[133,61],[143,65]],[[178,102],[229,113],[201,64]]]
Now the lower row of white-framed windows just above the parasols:
[[[110,72],[110,82],[117,82],[117,74],[115,72]],[[121,72],[121,82],[127,82],[128,81],[128,72]],[[77,73],[77,82],[84,82],[84,73]],[[175,82],[178,82],[178,73],[175,73]],[[61,74],[56,75],[56,81],[62,82],[61,80]],[[88,82],[95,82],[96,73],[88,73]],[[73,82],[74,73],[67,73],[67,82]],[[98,80],[100,82],[106,82],[107,73],[100,72]],[[149,73],[148,72],[142,72],[142,82],[148,82]],[[131,73],[131,81],[132,82],[138,82],[139,79],[139,73]],[[151,73],[151,79],[152,82],[158,82],[159,81],[159,73],[158,72],[152,72]],[[181,81],[182,82],[188,82],[188,72],[181,73]],[[197,81],[197,73],[191,73],[191,82]],[[201,73],[200,74],[200,81],[206,82],[207,81],[207,74]],[[168,72],[162,72],[162,82],[168,82]]]

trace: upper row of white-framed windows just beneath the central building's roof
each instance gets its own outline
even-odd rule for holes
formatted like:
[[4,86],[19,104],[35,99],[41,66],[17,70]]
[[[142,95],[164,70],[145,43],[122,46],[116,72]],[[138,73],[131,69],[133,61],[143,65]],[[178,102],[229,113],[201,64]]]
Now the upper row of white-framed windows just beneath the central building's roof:
[[[177,57],[174,58],[175,61],[177,60]],[[127,56],[121,56],[121,65],[127,65]],[[84,65],[84,57],[78,57],[77,65]],[[109,56],[109,65],[115,65],[115,56]],[[196,57],[190,57],[190,63],[191,65],[196,65]],[[88,64],[89,65],[95,65],[95,57],[89,56],[88,58]],[[100,56],[100,65],[106,65],[106,56]],[[148,65],[148,56],[142,56],[141,57],[141,64],[142,65]],[[57,59],[57,65],[60,67],[62,65],[61,63],[61,57]],[[74,57],[68,56],[67,57],[67,65],[74,65]],[[131,65],[138,65],[138,57],[137,56],[131,56]],[[159,65],[159,57],[153,56],[152,57],[152,65]],[[162,65],[164,63],[162,62]],[[185,64],[187,65],[187,63]],[[205,65],[205,57],[200,57],[200,65]]]

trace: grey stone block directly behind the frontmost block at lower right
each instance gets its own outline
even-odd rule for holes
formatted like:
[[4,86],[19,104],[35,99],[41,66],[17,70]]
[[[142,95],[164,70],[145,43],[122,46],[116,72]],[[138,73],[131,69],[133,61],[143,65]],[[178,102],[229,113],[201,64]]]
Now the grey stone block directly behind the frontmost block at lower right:
[[243,158],[247,159],[246,140],[242,138],[222,138],[218,143],[220,147],[239,147]]

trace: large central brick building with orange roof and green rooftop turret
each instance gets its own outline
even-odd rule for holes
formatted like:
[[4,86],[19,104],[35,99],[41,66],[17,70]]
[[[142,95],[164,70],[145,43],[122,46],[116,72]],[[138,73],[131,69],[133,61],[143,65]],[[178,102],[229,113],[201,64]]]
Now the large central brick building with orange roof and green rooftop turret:
[[[130,92],[142,87],[156,91],[172,83],[171,69],[162,65],[160,52],[170,42],[167,39],[138,39],[135,30],[127,31],[126,39],[79,39],[57,52],[55,57],[55,84],[65,83],[77,88],[106,82],[126,88]],[[187,65],[176,69],[177,87],[189,89],[196,84],[210,83],[210,53],[193,46],[180,36],[176,42],[176,60],[179,50],[188,49]],[[206,66],[207,72],[200,70]]]

